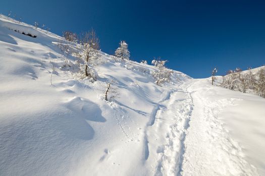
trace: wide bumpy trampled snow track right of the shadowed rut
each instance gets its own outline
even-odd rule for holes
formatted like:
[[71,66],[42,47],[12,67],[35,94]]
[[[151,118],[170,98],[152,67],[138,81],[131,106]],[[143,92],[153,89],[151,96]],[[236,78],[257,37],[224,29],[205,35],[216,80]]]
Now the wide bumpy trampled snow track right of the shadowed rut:
[[218,119],[222,109],[233,105],[234,100],[210,102],[198,93],[192,96],[197,107],[184,141],[181,175],[258,175]]

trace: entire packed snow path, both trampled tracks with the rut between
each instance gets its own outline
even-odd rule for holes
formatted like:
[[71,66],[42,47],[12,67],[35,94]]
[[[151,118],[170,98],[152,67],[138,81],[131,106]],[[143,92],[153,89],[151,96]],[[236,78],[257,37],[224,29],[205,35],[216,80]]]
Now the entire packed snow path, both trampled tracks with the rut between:
[[145,153],[151,174],[258,175],[218,120],[222,108],[232,106],[233,99],[210,102],[196,92],[198,81],[192,79],[168,93],[154,110]]

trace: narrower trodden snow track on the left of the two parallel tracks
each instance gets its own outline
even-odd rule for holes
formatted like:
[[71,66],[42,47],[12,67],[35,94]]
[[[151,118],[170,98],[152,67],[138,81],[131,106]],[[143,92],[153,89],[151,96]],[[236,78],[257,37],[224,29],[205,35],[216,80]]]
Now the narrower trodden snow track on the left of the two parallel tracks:
[[[150,158],[150,160],[155,160],[152,164],[154,175],[178,175],[180,173],[182,155],[185,151],[184,140],[192,110],[191,94],[182,89],[170,92],[154,109],[154,121],[149,123],[146,133],[146,144],[149,145],[147,147],[155,150],[152,152],[155,156]],[[160,131],[165,134],[159,139],[150,138],[152,133],[160,133]],[[148,162],[148,157],[145,159]]]

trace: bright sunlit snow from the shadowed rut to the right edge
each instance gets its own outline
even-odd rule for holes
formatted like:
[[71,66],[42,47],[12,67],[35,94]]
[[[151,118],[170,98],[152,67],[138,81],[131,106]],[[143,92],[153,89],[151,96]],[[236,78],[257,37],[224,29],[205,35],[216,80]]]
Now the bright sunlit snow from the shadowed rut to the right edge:
[[[193,121],[185,140],[184,173],[197,175],[260,175],[264,173],[264,99],[209,86],[210,80],[194,80],[189,90],[194,91]],[[251,101],[252,100],[252,101]],[[248,104],[248,108],[245,107]],[[257,106],[260,114],[253,109]],[[244,115],[246,114],[246,115]],[[253,123],[261,123],[260,126]],[[249,123],[251,122],[252,123]],[[234,122],[234,123],[233,123]],[[235,126],[234,126],[235,125]],[[262,127],[263,126],[263,127]],[[259,131],[256,134],[254,130]],[[199,133],[198,133],[199,131]],[[237,135],[235,135],[237,134]],[[249,144],[256,144],[259,156]],[[194,152],[197,152],[196,154]],[[249,157],[251,156],[251,158]],[[203,158],[203,159],[202,159]],[[258,159],[260,162],[256,162]],[[191,167],[193,170],[185,169]],[[255,167],[256,166],[256,167]],[[204,167],[204,170],[201,170]],[[215,169],[213,169],[215,168]]]

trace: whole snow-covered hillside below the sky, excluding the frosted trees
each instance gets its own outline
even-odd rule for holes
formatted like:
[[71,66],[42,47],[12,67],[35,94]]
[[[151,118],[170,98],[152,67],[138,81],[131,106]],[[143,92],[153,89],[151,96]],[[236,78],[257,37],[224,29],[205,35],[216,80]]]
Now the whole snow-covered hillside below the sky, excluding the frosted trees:
[[158,86],[153,66],[103,52],[98,80],[78,80],[59,40],[0,17],[0,175],[265,174],[265,99],[178,71]]

